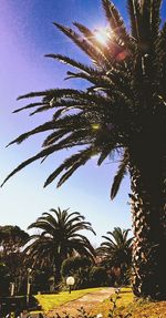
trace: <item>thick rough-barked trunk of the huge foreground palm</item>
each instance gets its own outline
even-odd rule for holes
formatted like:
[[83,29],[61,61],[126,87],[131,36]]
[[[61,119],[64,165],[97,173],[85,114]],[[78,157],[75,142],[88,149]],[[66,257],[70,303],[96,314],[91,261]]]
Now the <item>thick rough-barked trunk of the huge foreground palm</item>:
[[[155,154],[154,154],[155,152]],[[166,192],[164,152],[138,147],[131,155],[133,290],[138,297],[166,299]]]

